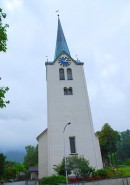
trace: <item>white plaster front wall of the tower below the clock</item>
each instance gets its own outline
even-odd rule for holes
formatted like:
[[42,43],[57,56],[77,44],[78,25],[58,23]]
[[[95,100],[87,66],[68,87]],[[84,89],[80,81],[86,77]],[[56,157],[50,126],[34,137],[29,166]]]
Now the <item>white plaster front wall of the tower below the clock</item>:
[[[48,174],[54,173],[53,165],[59,164],[64,156],[63,129],[68,122],[71,122],[71,125],[67,126],[65,131],[66,155],[70,154],[69,137],[75,136],[77,154],[84,155],[93,167],[102,168],[101,156],[96,154],[97,142],[95,141],[83,66],[76,65],[74,62],[69,66],[72,69],[73,80],[67,80],[67,77],[66,80],[59,80],[61,66],[58,61],[46,67]],[[64,69],[66,71],[67,67]],[[64,95],[64,87],[72,87],[73,95]]]

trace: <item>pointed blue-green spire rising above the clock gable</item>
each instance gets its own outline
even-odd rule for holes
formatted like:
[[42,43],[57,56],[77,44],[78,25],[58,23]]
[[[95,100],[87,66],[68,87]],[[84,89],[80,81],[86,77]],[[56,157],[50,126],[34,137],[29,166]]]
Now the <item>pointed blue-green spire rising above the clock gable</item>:
[[55,57],[54,60],[65,51],[68,55],[70,55],[69,48],[61,27],[59,15],[58,15],[58,29],[57,29],[57,40],[56,40],[56,48],[55,48]]

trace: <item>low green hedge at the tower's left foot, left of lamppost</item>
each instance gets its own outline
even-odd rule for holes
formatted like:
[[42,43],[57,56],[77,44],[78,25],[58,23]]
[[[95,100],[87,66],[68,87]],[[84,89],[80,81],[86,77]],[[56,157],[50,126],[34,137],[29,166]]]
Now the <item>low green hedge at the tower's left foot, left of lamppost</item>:
[[40,185],[44,185],[44,184],[58,184],[58,183],[66,183],[65,176],[52,175],[52,176],[49,176],[49,177],[43,177],[40,180]]

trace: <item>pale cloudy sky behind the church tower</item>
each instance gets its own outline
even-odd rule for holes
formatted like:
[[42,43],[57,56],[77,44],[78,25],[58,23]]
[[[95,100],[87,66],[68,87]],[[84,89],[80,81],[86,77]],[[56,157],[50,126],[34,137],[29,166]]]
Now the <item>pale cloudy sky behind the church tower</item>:
[[57,13],[71,57],[84,62],[95,132],[104,123],[130,129],[129,0],[0,0],[7,14],[7,52],[0,86],[10,104],[0,110],[0,151],[36,145],[47,127],[45,62],[54,60]]

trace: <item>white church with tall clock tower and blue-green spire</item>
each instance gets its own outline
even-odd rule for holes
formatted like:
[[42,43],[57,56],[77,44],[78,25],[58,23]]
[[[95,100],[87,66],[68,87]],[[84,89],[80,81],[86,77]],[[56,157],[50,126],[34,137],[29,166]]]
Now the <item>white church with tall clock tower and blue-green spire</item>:
[[45,63],[47,128],[37,137],[39,178],[54,174],[64,156],[82,155],[92,167],[103,167],[83,65],[71,57],[58,16],[54,61]]

